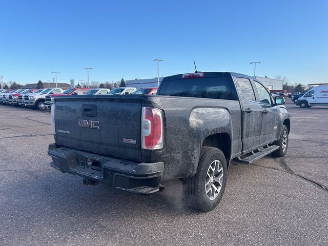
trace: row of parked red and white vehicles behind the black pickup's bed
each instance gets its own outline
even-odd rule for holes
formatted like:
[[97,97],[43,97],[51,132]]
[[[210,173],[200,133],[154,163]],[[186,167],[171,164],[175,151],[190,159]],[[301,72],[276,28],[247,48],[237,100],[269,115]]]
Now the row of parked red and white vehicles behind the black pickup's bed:
[[113,90],[106,88],[71,88],[63,90],[61,88],[48,89],[18,89],[18,90],[0,90],[0,104],[7,104],[16,107],[24,106],[37,110],[46,110],[54,103],[56,96],[70,95],[154,95],[157,92],[155,88],[141,88],[137,90],[134,87],[119,87]]

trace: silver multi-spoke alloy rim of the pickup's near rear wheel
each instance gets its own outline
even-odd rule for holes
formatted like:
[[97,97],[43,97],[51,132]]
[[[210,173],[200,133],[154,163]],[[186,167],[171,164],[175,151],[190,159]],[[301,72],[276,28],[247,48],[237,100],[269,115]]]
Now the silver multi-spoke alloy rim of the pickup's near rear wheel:
[[214,200],[221,191],[223,181],[223,166],[219,160],[213,160],[207,170],[205,192],[207,198]]

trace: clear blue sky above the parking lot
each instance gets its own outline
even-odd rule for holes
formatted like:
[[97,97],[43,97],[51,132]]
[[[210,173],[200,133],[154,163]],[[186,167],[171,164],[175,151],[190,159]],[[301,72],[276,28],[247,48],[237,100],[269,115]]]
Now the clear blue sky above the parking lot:
[[20,84],[201,71],[326,83],[328,1],[2,1],[0,75]]

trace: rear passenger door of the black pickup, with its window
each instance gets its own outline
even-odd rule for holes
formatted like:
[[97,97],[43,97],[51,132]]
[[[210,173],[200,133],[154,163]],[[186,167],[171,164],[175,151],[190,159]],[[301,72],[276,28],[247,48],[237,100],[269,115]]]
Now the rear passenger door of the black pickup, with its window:
[[251,80],[237,77],[242,110],[242,152],[256,149],[261,142],[262,107],[256,101]]

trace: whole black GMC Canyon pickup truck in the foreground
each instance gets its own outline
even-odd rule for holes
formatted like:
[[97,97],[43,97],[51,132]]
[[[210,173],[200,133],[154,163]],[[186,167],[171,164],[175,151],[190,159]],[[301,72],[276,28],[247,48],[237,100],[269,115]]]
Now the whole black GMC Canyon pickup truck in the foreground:
[[253,77],[195,72],[166,77],[156,95],[56,97],[51,166],[137,194],[182,180],[200,211],[219,203],[232,159],[284,156],[290,117],[284,98]]

